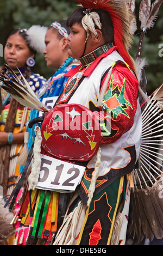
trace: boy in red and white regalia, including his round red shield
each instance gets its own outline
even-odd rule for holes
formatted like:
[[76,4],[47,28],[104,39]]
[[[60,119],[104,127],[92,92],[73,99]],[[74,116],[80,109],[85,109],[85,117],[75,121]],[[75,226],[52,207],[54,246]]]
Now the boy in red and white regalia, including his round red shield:
[[[69,114],[71,125],[77,115],[82,115],[76,111],[77,106],[91,111],[101,127],[100,145],[95,143],[91,121],[84,124],[84,130],[59,134],[55,128],[62,118],[55,115],[54,121],[53,109],[46,115],[41,127],[41,153],[62,161],[58,169],[53,168],[59,176],[54,180],[52,175],[51,184],[59,184],[65,162],[72,163],[73,171],[77,169],[75,164],[84,166],[85,172],[74,193],[32,191],[34,221],[29,237],[45,239],[51,232],[53,245],[122,245],[126,239],[131,172],[139,157],[142,129],[139,84],[128,54],[131,34],[126,19],[130,20],[131,14],[126,15],[126,5],[119,0],[77,2],[83,7],[68,18],[68,54],[79,59],[81,65],[66,73],[67,84],[53,109],[63,111],[63,117]],[[64,113],[68,106],[74,108]],[[77,133],[79,137],[74,141]],[[91,145],[87,152],[84,144]],[[97,153],[86,158],[96,144]],[[43,166],[44,173],[45,169]],[[41,181],[47,176],[44,174]],[[48,231],[51,216],[52,229]]]

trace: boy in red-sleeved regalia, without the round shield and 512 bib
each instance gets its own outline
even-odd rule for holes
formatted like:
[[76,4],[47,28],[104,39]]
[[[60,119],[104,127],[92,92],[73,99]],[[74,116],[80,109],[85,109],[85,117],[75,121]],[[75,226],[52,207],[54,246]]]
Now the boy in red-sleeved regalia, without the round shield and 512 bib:
[[[139,157],[142,127],[137,100],[139,86],[134,62],[128,54],[130,34],[126,7],[122,1],[77,2],[83,7],[68,18],[71,29],[68,54],[80,59],[82,64],[67,73],[70,78],[58,104],[77,103],[96,113],[101,126],[101,166],[92,188],[97,156],[85,163],[78,196],[69,205],[69,217],[65,218],[54,245],[124,244],[130,173]],[[79,202],[82,202],[83,214],[71,230],[66,221],[77,205],[79,208]],[[72,224],[74,219],[72,217]]]

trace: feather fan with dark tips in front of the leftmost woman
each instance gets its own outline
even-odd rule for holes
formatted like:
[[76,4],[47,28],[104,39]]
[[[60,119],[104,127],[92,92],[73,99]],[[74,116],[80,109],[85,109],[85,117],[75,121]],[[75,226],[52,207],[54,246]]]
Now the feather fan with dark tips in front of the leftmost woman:
[[[18,78],[9,65],[5,64],[4,67],[7,71],[0,75],[0,81],[2,82],[1,87],[23,106],[37,109],[37,111],[47,112],[47,108],[36,97],[21,71],[17,68],[21,74],[22,80]],[[7,72],[9,72],[11,77],[8,76]]]

